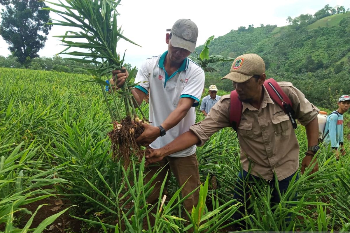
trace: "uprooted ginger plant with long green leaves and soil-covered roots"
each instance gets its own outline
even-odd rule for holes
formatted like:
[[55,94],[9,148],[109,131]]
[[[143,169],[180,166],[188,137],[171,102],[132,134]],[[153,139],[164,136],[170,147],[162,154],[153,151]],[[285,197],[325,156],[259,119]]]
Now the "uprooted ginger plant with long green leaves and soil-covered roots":
[[[47,1],[47,3],[54,5],[55,8],[45,8],[57,13],[63,18],[63,20],[56,20],[51,23],[54,25],[72,27],[79,31],[67,31],[63,36],[56,36],[61,38],[63,45],[67,46],[67,49],[63,50],[62,54],[68,54],[71,56],[79,56],[79,58],[66,58],[73,61],[79,61],[82,63],[94,63],[95,69],[86,69],[96,77],[94,82],[98,82],[107,108],[111,114],[113,122],[113,130],[108,133],[112,141],[112,156],[117,160],[123,160],[124,166],[128,166],[130,163],[131,155],[136,155],[142,158],[144,153],[137,145],[135,139],[140,136],[144,130],[142,123],[148,123],[144,114],[141,115],[143,119],[137,116],[134,103],[137,105],[135,98],[131,94],[130,88],[134,87],[135,83],[128,83],[130,81],[135,68],[130,72],[129,78],[124,83],[120,91],[116,92],[121,97],[121,101],[124,102],[126,116],[121,115],[120,105],[117,103],[116,95],[111,92],[112,104],[107,98],[104,90],[104,85],[111,87],[110,83],[105,82],[101,77],[110,77],[112,70],[122,70],[124,63],[123,58],[117,53],[117,42],[120,38],[137,45],[130,39],[122,35],[121,27],[117,26],[117,16],[119,13],[116,7],[119,5],[119,1],[114,0],[66,0],[65,3],[53,3]],[[61,9],[58,9],[61,8]],[[67,39],[78,39],[78,41],[70,41]],[[85,39],[85,42],[80,42]],[[70,48],[78,48],[79,51],[66,52]],[[81,49],[87,49],[87,52],[80,52]],[[122,70],[123,71],[123,70]],[[112,111],[115,109],[116,114]]]

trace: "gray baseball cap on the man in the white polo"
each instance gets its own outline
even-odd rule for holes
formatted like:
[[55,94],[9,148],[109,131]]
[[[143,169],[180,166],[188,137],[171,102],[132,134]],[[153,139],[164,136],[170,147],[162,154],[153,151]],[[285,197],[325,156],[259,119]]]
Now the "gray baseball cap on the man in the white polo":
[[170,30],[172,46],[186,49],[193,53],[196,48],[198,37],[197,25],[189,19],[177,20]]

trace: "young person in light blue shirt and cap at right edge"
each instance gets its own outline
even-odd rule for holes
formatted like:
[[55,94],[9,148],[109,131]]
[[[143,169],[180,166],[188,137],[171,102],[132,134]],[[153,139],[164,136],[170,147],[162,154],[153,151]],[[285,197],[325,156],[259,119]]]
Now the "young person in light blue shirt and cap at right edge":
[[339,151],[345,155],[344,135],[343,135],[343,114],[349,110],[350,96],[342,95],[338,101],[338,109],[328,115],[324,132],[327,134],[323,141],[324,145],[332,147],[336,151],[336,159],[339,159]]

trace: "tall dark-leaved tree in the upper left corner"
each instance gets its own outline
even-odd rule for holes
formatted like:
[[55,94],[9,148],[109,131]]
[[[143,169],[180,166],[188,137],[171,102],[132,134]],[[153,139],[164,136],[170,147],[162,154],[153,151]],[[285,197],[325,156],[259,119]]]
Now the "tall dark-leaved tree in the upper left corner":
[[0,35],[18,61],[29,66],[31,59],[44,47],[51,25],[49,11],[41,10],[45,3],[37,0],[0,0],[5,6],[1,13]]

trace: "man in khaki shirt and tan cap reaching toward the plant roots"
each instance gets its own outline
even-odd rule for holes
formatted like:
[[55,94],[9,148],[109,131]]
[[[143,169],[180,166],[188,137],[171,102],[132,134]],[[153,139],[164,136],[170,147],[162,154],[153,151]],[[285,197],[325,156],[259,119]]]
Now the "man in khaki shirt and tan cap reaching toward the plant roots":
[[[265,63],[257,54],[243,54],[237,57],[230,73],[223,78],[232,80],[243,103],[237,130],[243,172],[238,174],[239,188],[235,189],[236,193],[233,196],[242,203],[249,198],[247,185],[243,188],[243,180],[253,182],[253,177],[255,180],[268,180],[271,181],[269,185],[273,187],[276,177],[282,194],[299,168],[299,144],[294,129],[288,115],[274,103],[264,88],[265,78]],[[306,128],[308,152],[302,161],[301,174],[303,174],[319,148],[317,111],[292,83],[278,82],[278,84],[291,100],[295,118]],[[150,154],[146,155],[147,162],[156,162],[192,145],[202,146],[218,130],[231,127],[230,103],[230,95],[222,96],[202,122],[191,126],[189,131],[165,147],[150,150]],[[316,164],[312,172],[318,170],[317,162],[315,160],[314,162]],[[275,189],[271,201],[280,202]],[[244,204],[246,207],[249,205]],[[245,212],[243,206],[240,212]],[[238,220],[242,216],[236,212],[234,217]]]

